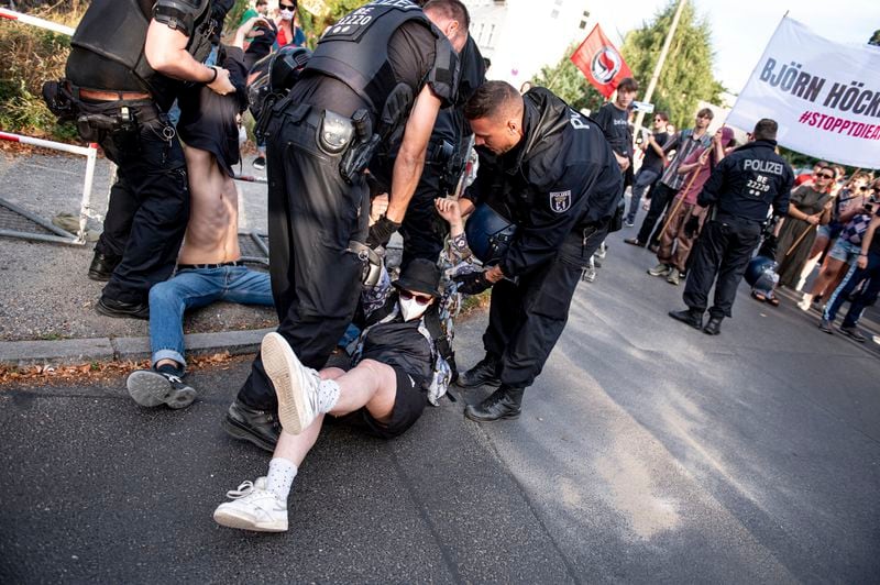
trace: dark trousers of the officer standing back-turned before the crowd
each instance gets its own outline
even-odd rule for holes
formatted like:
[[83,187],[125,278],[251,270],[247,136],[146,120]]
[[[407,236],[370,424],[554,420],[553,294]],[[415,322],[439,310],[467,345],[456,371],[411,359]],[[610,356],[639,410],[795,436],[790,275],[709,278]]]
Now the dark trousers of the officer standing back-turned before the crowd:
[[760,241],[761,224],[757,221],[706,222],[691,252],[693,264],[684,286],[684,303],[692,309],[705,311],[708,291],[714,283],[715,303],[710,309],[710,314],[730,317],[736,289]]

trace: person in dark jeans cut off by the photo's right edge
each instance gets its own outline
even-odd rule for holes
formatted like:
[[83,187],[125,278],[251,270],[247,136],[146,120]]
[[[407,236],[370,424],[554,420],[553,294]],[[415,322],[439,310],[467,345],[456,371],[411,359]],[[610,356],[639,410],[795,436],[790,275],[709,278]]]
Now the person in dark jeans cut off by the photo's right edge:
[[[876,238],[877,228],[880,227],[880,206],[877,203],[871,203],[871,206],[873,217],[861,240],[858,260],[832,292],[818,323],[822,331],[833,333],[832,323],[834,323],[837,311],[840,310],[844,300],[849,299],[849,310],[840,324],[840,331],[859,343],[865,343],[868,339],[858,330],[859,319],[866,307],[877,302],[877,296],[880,292],[880,238]],[[862,282],[867,282],[867,284],[854,295],[856,286]]]

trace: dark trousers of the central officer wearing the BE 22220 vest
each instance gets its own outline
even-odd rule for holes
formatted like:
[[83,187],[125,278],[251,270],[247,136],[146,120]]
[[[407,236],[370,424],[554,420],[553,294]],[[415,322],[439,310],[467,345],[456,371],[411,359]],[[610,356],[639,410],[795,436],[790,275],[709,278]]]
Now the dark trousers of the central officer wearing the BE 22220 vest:
[[[318,146],[319,117],[306,112],[290,104],[268,129],[270,275],[278,333],[302,364],[318,369],[358,306],[362,264],[346,247],[366,239],[370,194],[363,175],[352,185],[342,179],[342,155]],[[277,407],[260,354],[239,400],[261,410]]]

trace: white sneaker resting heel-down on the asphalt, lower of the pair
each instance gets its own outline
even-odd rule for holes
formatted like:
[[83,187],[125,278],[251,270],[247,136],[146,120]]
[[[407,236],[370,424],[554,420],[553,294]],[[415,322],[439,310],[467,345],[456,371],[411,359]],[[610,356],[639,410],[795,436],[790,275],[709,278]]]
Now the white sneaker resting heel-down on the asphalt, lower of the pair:
[[266,489],[265,477],[257,477],[255,484],[244,482],[238,489],[227,492],[227,497],[232,501],[213,511],[218,525],[256,532],[287,531],[287,503]]

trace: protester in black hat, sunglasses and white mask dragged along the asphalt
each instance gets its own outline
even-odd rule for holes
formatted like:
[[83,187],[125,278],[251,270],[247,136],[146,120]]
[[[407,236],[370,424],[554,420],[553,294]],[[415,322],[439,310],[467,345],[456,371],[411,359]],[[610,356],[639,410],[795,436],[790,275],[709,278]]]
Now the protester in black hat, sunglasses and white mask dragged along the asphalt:
[[[450,239],[465,250],[458,205],[449,199],[436,205],[450,222]],[[443,343],[451,342],[451,331],[439,335],[431,325],[443,310],[440,278],[437,264],[425,258],[413,260],[394,284],[383,266],[378,284],[362,291],[365,329],[348,372],[316,372],[299,362],[282,335],[263,339],[263,364],[278,398],[283,430],[267,476],[229,492],[233,500],[213,512],[218,523],[262,532],[287,530],[293,481],[318,440],[324,415],[367,434],[394,439],[419,419],[431,396],[446,393],[450,368]]]

